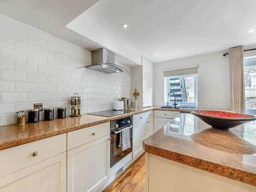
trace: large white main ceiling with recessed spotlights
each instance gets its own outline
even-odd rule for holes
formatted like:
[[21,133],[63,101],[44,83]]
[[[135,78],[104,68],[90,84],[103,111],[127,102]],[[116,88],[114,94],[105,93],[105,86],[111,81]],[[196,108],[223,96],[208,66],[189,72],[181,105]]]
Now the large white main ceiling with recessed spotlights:
[[152,62],[256,43],[255,0],[99,0],[84,13]]

